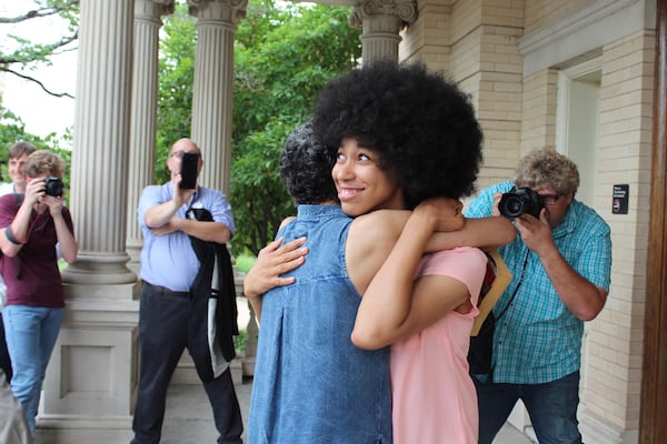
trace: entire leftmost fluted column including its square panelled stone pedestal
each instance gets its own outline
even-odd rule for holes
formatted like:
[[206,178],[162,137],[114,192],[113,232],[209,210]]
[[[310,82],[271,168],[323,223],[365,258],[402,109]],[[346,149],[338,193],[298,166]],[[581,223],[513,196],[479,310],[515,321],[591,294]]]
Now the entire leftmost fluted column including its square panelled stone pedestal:
[[40,443],[127,443],[137,276],[126,265],[133,0],[81,0],[71,194],[79,260],[43,384]]

